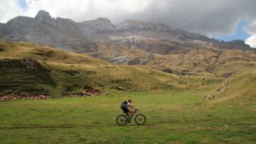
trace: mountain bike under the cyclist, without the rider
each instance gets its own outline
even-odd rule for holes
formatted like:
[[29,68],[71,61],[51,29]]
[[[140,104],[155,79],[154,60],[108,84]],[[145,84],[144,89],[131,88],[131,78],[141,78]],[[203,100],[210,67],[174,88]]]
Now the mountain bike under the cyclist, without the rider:
[[[136,115],[136,116],[135,116]],[[143,125],[146,123],[146,117],[143,114],[139,114],[139,110],[136,108],[133,111],[133,114],[129,115],[123,115],[121,114],[120,116],[117,117],[117,124],[119,126],[125,126],[126,123],[130,123],[133,116],[135,116],[135,123],[138,125]]]

